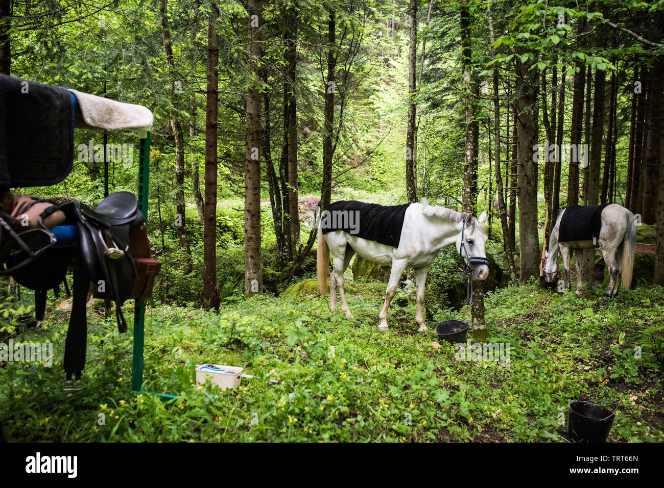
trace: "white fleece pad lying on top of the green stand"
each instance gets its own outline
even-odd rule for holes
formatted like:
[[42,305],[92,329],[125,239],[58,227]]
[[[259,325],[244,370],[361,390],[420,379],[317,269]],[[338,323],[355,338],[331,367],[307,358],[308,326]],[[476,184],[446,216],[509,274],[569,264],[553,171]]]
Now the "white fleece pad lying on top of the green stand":
[[[78,99],[88,129],[147,129],[152,127],[153,116],[143,105],[123,103],[82,91],[69,90]],[[78,127],[78,125],[76,125]]]

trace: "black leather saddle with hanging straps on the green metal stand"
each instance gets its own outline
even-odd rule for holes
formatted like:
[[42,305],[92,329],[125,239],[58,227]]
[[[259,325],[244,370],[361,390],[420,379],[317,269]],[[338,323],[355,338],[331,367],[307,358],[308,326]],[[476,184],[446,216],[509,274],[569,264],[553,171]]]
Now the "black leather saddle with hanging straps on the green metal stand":
[[[66,337],[64,370],[67,380],[72,376],[80,379],[85,365],[88,334],[86,301],[90,282],[92,296],[115,302],[118,329],[127,332],[122,304],[129,298],[137,278],[135,261],[129,252],[129,237],[133,229],[145,225],[145,215],[138,210],[136,197],[129,192],[109,195],[94,210],[80,202],[67,202],[58,206],[58,210],[65,215],[63,225],[76,226],[78,241],[63,247],[58,247],[58,243],[49,243],[48,249],[37,253],[35,259],[19,253],[13,259],[24,259],[26,264],[11,275],[23,286],[36,290],[35,308],[39,320],[43,318],[46,290],[58,286],[64,280],[68,267],[73,264],[72,312]],[[20,239],[21,233],[14,233],[13,237]]]

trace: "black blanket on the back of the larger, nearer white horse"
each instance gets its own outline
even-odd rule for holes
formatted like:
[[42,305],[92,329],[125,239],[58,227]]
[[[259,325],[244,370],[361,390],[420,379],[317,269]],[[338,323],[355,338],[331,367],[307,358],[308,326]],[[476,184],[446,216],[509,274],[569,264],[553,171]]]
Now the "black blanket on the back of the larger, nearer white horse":
[[331,204],[321,215],[323,233],[345,231],[351,235],[399,247],[404,217],[410,204],[382,206],[351,200]]

